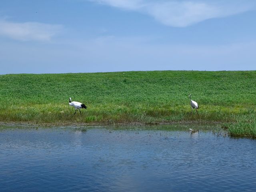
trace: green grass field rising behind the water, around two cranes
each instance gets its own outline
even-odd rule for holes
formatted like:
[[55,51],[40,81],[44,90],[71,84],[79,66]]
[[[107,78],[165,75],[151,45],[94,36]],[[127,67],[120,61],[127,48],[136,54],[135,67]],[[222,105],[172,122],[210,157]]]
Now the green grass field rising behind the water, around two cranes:
[[[256,71],[8,74],[0,75],[0,97],[4,123],[217,123],[256,137]],[[88,107],[82,117],[69,97]]]

